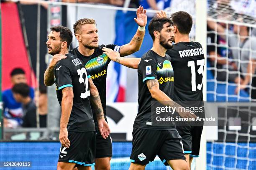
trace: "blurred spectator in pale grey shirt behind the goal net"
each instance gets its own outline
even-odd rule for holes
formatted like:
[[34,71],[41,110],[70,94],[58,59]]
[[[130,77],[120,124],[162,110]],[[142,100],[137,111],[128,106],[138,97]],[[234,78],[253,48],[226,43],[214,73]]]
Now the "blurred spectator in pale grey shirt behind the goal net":
[[[238,22],[242,22],[243,19],[243,17],[238,17]],[[217,28],[218,33],[225,33],[226,31],[225,27],[220,24],[216,25],[216,23],[212,23],[209,26],[212,29]],[[240,83],[240,87],[238,86],[236,88],[235,93],[238,93],[240,89],[246,89],[249,84],[256,87],[256,78],[252,76],[255,74],[256,38],[249,36],[250,29],[244,25],[234,25],[233,32],[229,32],[227,36],[228,46],[241,73],[241,76],[235,80],[236,83]],[[225,38],[226,35],[222,37]],[[256,99],[256,91],[253,87],[251,97],[252,99]],[[250,93],[250,90],[248,92]]]

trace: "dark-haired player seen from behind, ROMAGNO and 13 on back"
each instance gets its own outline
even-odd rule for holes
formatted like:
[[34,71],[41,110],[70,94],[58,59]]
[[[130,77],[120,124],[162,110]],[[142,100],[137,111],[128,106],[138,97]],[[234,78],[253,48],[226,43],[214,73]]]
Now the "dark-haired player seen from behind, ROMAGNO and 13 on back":
[[[159,17],[165,17],[164,11],[158,12]],[[201,107],[203,101],[202,80],[205,56],[198,42],[190,41],[189,32],[192,28],[192,17],[187,12],[173,13],[170,19],[174,23],[175,45],[166,51],[171,56],[174,70],[174,100],[186,103],[193,101],[193,107]],[[201,114],[204,116],[204,113]],[[202,123],[202,122],[200,122]],[[191,166],[193,157],[199,157],[200,140],[203,124],[177,126],[182,136],[184,153],[187,163]]]

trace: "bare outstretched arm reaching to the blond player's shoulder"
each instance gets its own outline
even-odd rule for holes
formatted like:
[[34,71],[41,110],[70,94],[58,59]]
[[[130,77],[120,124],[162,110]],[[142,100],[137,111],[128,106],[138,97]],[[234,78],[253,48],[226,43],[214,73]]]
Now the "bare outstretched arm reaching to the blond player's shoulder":
[[102,51],[103,53],[110,58],[110,60],[115,61],[117,63],[120,63],[126,67],[132,68],[132,69],[138,69],[138,64],[141,61],[141,58],[123,58],[120,57],[120,53],[113,51],[110,48],[103,47]]

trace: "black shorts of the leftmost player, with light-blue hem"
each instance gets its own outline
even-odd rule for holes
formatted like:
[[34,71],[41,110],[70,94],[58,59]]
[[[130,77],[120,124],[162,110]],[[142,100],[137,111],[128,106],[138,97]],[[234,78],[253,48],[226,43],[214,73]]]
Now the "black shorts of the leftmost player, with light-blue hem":
[[68,133],[70,147],[63,147],[59,152],[59,162],[72,162],[76,166],[95,165],[95,132]]

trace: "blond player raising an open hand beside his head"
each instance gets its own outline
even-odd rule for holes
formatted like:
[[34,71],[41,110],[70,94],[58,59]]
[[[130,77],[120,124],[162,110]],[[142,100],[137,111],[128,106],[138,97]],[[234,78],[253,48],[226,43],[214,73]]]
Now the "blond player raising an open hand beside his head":
[[[131,42],[123,46],[117,45],[106,45],[106,47],[113,49],[120,53],[121,56],[127,56],[138,51],[141,47],[143,37],[145,35],[145,26],[147,23],[146,10],[143,7],[137,9],[137,18],[134,18],[136,23],[139,25],[135,36]],[[85,68],[92,77],[92,81],[97,87],[100,93],[100,99],[102,101],[103,111],[105,120],[106,118],[106,77],[108,64],[110,59],[106,54],[103,54],[102,47],[98,45],[98,30],[96,28],[96,22],[92,19],[81,19],[73,25],[74,34],[79,42],[79,46],[74,48],[70,53],[77,56],[85,64]],[[49,50],[51,46],[48,46]],[[50,86],[54,82],[54,76],[52,69],[54,68],[57,61],[65,58],[63,55],[54,56],[53,60],[49,64],[48,69],[45,71],[44,83],[46,86]],[[92,106],[93,107],[93,106]],[[95,123],[97,118],[94,114]],[[96,123],[97,125],[97,123]],[[96,129],[97,130],[97,129]],[[112,142],[111,137],[108,136],[104,140],[100,133],[96,134],[96,170],[110,170],[110,159],[112,157]]]

